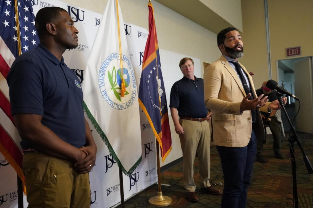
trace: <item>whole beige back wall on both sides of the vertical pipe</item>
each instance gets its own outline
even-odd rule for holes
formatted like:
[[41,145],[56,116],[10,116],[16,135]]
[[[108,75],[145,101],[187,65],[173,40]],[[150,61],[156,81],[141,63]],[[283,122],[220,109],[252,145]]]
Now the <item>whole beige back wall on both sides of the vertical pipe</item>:
[[[301,56],[313,55],[312,0],[268,0],[272,79],[277,80],[276,61],[287,59],[285,48],[301,46]],[[269,79],[266,47],[264,2],[241,0],[244,57],[240,62],[254,72],[254,86]]]

